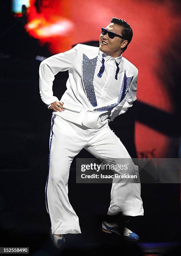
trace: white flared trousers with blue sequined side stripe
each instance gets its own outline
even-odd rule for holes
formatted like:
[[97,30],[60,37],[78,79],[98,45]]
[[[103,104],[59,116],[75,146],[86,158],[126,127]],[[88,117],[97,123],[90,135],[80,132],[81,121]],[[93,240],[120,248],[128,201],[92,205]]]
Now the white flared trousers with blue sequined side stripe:
[[[46,210],[51,220],[52,234],[81,233],[79,218],[69,202],[68,179],[71,162],[82,148],[97,158],[131,158],[109,126],[95,130],[53,114],[45,188]],[[143,215],[140,183],[112,183],[107,213],[113,215],[120,211],[124,215]]]

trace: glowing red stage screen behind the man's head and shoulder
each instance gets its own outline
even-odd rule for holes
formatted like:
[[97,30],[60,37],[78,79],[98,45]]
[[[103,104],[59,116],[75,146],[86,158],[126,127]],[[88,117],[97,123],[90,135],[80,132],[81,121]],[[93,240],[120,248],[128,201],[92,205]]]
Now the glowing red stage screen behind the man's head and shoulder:
[[[162,55],[171,48],[172,35],[181,23],[173,1],[43,0],[39,13],[34,4],[31,0],[25,28],[41,45],[48,42],[52,54],[69,50],[74,44],[99,41],[100,28],[106,27],[112,17],[126,20],[133,28],[133,40],[123,56],[139,70],[137,99],[167,113],[174,112],[174,102],[159,76],[168,61],[163,61]],[[60,30],[55,28],[52,34],[52,25]],[[138,157],[140,152],[152,150],[156,158],[167,157],[171,143],[172,138],[136,121]]]

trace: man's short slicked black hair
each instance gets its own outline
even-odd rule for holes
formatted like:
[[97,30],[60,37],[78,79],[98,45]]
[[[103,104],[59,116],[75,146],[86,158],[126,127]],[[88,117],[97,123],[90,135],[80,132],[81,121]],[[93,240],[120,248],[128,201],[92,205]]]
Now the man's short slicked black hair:
[[[120,25],[122,27],[122,36],[125,38],[125,40],[128,41],[127,45],[122,49],[122,52],[127,49],[128,44],[130,44],[130,41],[133,37],[133,30],[130,27],[130,24],[128,24],[125,20],[118,19],[118,18],[112,18],[111,23]],[[124,39],[122,39],[124,41]]]

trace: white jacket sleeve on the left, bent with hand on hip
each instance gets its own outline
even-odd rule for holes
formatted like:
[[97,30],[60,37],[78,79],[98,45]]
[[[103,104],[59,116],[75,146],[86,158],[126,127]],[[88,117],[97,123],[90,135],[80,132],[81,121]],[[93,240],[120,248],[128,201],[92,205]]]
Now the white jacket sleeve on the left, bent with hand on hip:
[[53,81],[55,75],[58,72],[66,71],[72,68],[76,59],[76,51],[79,48],[79,44],[74,48],[63,53],[55,54],[45,60],[43,60],[39,67],[39,89],[41,100],[48,107],[51,103],[59,101],[59,99],[53,95]]

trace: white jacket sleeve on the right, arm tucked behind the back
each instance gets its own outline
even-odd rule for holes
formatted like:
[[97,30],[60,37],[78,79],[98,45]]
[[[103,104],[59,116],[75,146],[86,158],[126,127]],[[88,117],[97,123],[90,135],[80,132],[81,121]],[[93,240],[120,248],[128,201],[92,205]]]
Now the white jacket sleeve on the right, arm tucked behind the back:
[[133,106],[133,102],[137,99],[137,79],[138,79],[138,69],[135,78],[130,84],[130,88],[125,96],[125,98],[111,111],[110,121],[113,121],[118,115],[124,114],[128,108]]

